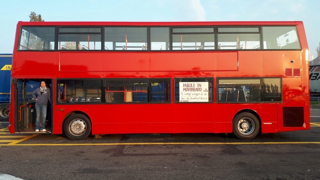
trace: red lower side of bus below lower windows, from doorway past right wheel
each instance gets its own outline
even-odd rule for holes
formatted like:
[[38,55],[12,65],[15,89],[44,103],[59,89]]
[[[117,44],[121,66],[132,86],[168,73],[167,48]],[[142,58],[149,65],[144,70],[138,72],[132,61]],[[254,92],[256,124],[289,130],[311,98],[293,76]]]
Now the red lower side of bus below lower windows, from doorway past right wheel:
[[[88,114],[92,120],[92,134],[105,133],[182,133],[182,132],[232,132],[232,120],[237,112],[255,111],[261,119],[263,133],[277,132],[276,103],[239,104],[101,104],[88,108],[84,105],[56,105],[54,133],[61,133],[62,120],[71,109]],[[246,106],[243,109],[243,106]],[[197,107],[198,106],[198,107]],[[185,108],[187,107],[187,108]],[[212,110],[214,109],[214,110]],[[185,112],[185,113],[181,113]],[[216,113],[215,113],[216,112]],[[218,113],[217,113],[218,112]],[[179,114],[181,113],[181,114]],[[173,115],[175,114],[175,115]],[[179,114],[179,115],[176,115]]]

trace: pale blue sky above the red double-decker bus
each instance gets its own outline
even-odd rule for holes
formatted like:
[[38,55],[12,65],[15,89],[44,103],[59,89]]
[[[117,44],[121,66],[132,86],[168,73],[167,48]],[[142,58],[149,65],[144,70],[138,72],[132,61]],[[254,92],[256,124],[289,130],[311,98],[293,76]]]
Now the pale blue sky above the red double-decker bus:
[[310,60],[320,42],[320,0],[2,0],[0,53],[12,53],[18,21],[303,21]]

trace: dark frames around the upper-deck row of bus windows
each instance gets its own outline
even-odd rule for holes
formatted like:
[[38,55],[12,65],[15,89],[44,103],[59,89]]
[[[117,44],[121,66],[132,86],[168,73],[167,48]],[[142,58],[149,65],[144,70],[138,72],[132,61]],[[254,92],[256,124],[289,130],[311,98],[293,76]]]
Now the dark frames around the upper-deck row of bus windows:
[[[24,27],[52,27],[54,28],[54,41],[52,48],[51,49],[20,49],[20,42],[21,42],[21,38],[22,38],[22,29]],[[132,49],[132,50],[128,50],[128,51],[144,51],[144,52],[151,52],[151,51],[199,51],[199,49],[187,49],[187,50],[181,50],[181,49],[172,49],[172,45],[173,45],[173,40],[172,40],[172,36],[176,35],[176,34],[213,34],[213,45],[214,48],[210,48],[210,49],[201,49],[201,51],[219,51],[219,50],[223,50],[223,51],[232,51],[232,50],[237,50],[237,51],[267,51],[267,50],[301,50],[301,41],[297,32],[297,26],[296,25],[194,25],[194,26],[177,26],[177,25],[164,25],[164,26],[108,26],[108,25],[85,25],[85,26],[72,26],[72,25],[58,25],[58,26],[52,26],[52,25],[45,25],[45,26],[39,26],[39,25],[22,25],[20,26],[20,32],[19,32],[19,41],[17,43],[17,51],[121,51],[121,50],[113,50],[113,49],[106,49],[105,48],[105,28],[107,27],[141,27],[141,28],[146,28],[146,44],[149,44],[148,46],[150,47],[145,47],[144,50],[136,50],[136,49]],[[168,44],[168,48],[163,48],[163,49],[151,49],[151,28],[156,28],[156,27],[167,27],[169,28],[169,32],[168,32],[168,40],[169,40],[169,44]],[[293,30],[295,30],[296,32],[296,38],[297,38],[297,42],[299,43],[299,48],[265,48],[265,44],[264,44],[264,39],[263,39],[263,28],[264,27],[292,27]],[[59,28],[98,28],[100,29],[100,32],[59,32]],[[173,32],[173,29],[196,29],[196,28],[212,28],[213,32],[208,32],[208,31],[204,31],[204,32]],[[230,30],[229,32],[223,31],[223,32],[219,32],[218,29],[219,28],[258,28],[258,31],[254,32],[254,31],[248,31],[245,32],[243,30],[236,32],[235,30]],[[60,49],[59,48],[59,35],[62,34],[91,34],[91,35],[100,35],[100,44],[101,47],[99,49],[87,49],[87,48],[81,48],[81,49]],[[258,47],[253,47],[250,49],[232,49],[232,48],[228,48],[228,49],[220,49],[219,48],[219,38],[218,35],[219,34],[259,34],[259,46]],[[51,43],[52,43],[51,42]],[[98,41],[89,41],[89,42],[98,42]],[[209,45],[210,46],[210,45]],[[284,45],[285,46],[285,45]],[[123,50],[121,52],[124,52]]]

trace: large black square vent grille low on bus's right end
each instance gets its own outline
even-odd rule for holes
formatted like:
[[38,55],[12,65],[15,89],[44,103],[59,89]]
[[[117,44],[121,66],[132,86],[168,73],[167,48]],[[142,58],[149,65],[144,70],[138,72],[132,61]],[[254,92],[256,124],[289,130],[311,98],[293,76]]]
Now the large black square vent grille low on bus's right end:
[[303,107],[283,107],[283,127],[302,127]]

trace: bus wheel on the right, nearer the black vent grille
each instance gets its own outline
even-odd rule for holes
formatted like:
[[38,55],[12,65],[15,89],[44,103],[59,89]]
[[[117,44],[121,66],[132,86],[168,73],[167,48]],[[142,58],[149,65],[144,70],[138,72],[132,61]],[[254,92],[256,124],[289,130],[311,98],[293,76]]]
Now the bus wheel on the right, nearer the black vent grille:
[[232,122],[233,133],[240,139],[251,139],[259,132],[260,124],[255,115],[242,112]]

